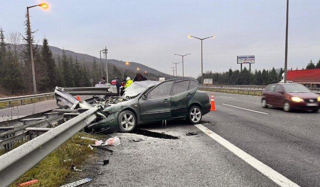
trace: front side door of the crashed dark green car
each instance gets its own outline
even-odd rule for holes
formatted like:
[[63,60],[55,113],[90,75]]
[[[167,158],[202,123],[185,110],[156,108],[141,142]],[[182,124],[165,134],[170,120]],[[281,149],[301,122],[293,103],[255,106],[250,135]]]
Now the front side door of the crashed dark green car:
[[148,91],[145,99],[139,99],[139,110],[142,122],[171,119],[170,92],[173,80],[160,83]]

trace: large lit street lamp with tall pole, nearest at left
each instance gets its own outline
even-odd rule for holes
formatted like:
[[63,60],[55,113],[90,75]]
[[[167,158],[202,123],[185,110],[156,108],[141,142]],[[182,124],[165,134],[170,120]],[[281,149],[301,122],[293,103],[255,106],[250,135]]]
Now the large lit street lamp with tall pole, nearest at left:
[[40,6],[42,8],[47,8],[48,5],[46,3],[41,3],[33,6],[26,7],[26,16],[27,16],[27,32],[29,36],[29,47],[30,47],[30,61],[31,61],[31,69],[32,69],[32,84],[33,84],[33,93],[36,94],[36,84],[35,84],[35,73],[34,73],[34,62],[33,62],[33,51],[32,51],[32,40],[31,40],[31,28],[30,28],[30,17],[29,17],[29,8]]

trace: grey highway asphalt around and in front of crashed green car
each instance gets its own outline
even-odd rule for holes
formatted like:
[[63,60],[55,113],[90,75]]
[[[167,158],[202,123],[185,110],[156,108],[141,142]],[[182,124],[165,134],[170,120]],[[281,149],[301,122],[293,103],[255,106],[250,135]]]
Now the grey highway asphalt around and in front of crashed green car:
[[[264,109],[260,107],[260,97],[208,94],[215,96],[216,111],[202,118],[203,128],[258,161],[244,161],[248,155],[244,152],[235,155],[237,148],[226,149],[225,145],[209,137],[210,132],[203,133],[185,121],[170,121],[165,129],[161,123],[138,128],[179,139],[153,138],[141,133],[111,134],[118,136],[122,144],[110,147],[114,150],[112,154],[99,151],[99,156],[91,161],[109,159],[110,163],[88,165],[82,177],[93,179],[90,187],[272,187],[278,186],[274,175],[286,178],[291,186],[320,186],[319,113]],[[197,135],[186,136],[188,132]],[[263,164],[257,164],[259,161]],[[261,165],[269,172],[260,170]],[[101,175],[97,175],[97,169]],[[280,185],[286,186],[287,181]]]

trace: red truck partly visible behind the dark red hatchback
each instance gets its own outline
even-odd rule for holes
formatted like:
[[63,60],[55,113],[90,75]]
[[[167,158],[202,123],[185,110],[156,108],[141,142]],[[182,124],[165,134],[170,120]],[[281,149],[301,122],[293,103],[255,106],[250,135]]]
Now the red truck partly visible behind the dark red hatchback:
[[[282,74],[283,81],[284,73]],[[320,68],[287,71],[286,80],[311,87],[320,87]]]

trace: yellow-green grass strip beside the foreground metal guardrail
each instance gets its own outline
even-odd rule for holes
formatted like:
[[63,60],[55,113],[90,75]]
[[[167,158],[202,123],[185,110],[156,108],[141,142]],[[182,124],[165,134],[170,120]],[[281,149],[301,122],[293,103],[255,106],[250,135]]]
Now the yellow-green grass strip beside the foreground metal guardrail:
[[[16,187],[19,183],[34,179],[37,179],[39,182],[30,187],[59,187],[65,184],[65,182],[69,181],[75,174],[75,172],[70,169],[71,165],[80,168],[88,156],[94,153],[94,150],[90,150],[87,146],[81,145],[93,144],[94,142],[80,139],[79,137],[81,136],[94,138],[91,135],[80,132],[75,134],[9,187]],[[15,147],[16,146],[17,145],[15,145]],[[0,152],[0,155],[3,153],[3,151],[2,153]],[[71,161],[65,161],[69,159]]]

